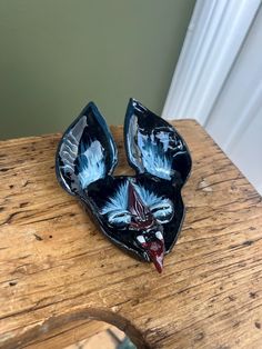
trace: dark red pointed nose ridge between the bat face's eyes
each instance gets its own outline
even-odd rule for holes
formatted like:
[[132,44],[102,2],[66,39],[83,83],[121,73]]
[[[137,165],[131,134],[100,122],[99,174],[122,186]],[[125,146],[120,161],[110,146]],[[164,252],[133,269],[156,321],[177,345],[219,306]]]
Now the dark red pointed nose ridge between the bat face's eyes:
[[150,209],[143,203],[132,183],[129,182],[129,210],[132,215],[130,227],[138,230],[151,228],[155,219]]

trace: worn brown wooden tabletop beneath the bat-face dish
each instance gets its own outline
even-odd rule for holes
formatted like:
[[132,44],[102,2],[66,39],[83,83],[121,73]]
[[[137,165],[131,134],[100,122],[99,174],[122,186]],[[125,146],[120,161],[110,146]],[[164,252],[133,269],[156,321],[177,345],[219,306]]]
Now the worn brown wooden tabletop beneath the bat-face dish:
[[[59,187],[60,134],[0,142],[1,348],[62,348],[90,318],[139,348],[262,348],[261,197],[199,124],[174,124],[193,170],[162,275],[112,246]],[[132,173],[122,127],[112,131],[117,172]]]

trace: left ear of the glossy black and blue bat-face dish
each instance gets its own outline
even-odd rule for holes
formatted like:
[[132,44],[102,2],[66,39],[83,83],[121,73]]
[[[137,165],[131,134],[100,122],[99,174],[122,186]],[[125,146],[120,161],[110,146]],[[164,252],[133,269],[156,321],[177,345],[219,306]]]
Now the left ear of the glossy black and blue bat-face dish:
[[[90,152],[84,154],[87,149]],[[100,157],[101,161],[97,161],[94,156]],[[95,168],[95,161],[102,168]],[[84,187],[81,181],[85,179],[87,182],[93,182],[111,174],[117,163],[118,151],[110,130],[97,106],[90,102],[59,142],[56,156],[57,178],[64,190],[79,196]],[[82,171],[85,176],[79,177],[83,164],[87,164],[88,171]]]

